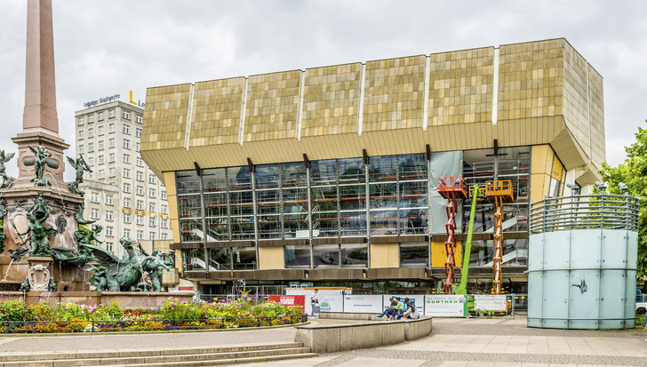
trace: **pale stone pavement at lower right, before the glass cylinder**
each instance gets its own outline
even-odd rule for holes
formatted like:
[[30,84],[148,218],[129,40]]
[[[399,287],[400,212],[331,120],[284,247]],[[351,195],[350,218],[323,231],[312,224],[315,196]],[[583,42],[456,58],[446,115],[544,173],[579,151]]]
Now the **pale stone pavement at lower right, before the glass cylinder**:
[[396,346],[248,366],[647,366],[647,332],[529,329],[525,318],[434,320],[434,334]]

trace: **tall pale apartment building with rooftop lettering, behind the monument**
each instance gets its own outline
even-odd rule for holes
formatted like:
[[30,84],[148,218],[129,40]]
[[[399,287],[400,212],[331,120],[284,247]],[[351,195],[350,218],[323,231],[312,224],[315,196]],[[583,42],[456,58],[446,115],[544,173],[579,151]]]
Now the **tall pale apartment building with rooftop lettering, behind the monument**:
[[113,101],[76,111],[76,155],[85,173],[84,218],[103,227],[104,247],[117,255],[123,235],[133,240],[172,239],[166,188],[140,156],[144,110]]

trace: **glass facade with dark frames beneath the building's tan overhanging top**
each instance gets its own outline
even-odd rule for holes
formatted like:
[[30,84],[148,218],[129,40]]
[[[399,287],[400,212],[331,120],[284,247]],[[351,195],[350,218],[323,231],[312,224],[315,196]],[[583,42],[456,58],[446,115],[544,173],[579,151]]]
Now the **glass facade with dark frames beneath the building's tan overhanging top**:
[[[500,148],[499,156],[490,154],[491,149],[465,151],[463,176],[468,185],[495,177],[512,180],[515,201],[504,206],[504,233],[527,231],[530,148]],[[207,245],[202,253],[183,251],[183,258],[186,252],[186,263],[194,268],[253,269],[255,247],[228,247],[226,242],[300,239],[309,244],[284,245],[287,268],[369,267],[371,237],[393,236],[401,267],[429,267],[429,243],[406,242],[406,236],[430,235],[430,220],[436,225],[447,220],[431,218],[429,195],[435,182],[429,181],[430,172],[426,154],[371,156],[367,163],[346,158],[261,164],[253,172],[249,166],[205,169],[202,176],[176,172],[180,241],[220,243],[215,249]],[[463,201],[464,233],[471,205],[471,200]],[[475,233],[492,232],[493,205],[477,205]],[[334,243],[342,237],[353,238]],[[327,238],[328,244],[317,243],[318,238]],[[491,265],[491,242],[474,242],[471,265]],[[527,252],[527,240],[505,240],[504,265],[525,266]]]

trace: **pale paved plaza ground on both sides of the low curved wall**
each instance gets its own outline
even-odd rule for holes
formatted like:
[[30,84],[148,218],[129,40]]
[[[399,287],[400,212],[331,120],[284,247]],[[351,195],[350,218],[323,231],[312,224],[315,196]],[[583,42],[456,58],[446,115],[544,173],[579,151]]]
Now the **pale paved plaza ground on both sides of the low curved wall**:
[[[345,323],[315,320],[313,323]],[[385,321],[385,323],[387,323]],[[434,320],[433,335],[395,346],[237,366],[647,366],[647,332],[529,329],[525,319]],[[0,337],[0,352],[124,351],[293,341],[295,329]]]

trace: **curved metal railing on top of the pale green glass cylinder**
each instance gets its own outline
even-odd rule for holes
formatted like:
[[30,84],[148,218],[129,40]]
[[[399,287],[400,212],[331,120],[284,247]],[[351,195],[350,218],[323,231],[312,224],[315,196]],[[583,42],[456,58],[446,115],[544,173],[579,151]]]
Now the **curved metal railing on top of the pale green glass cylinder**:
[[629,195],[571,195],[531,203],[531,234],[571,229],[638,231],[639,200]]

